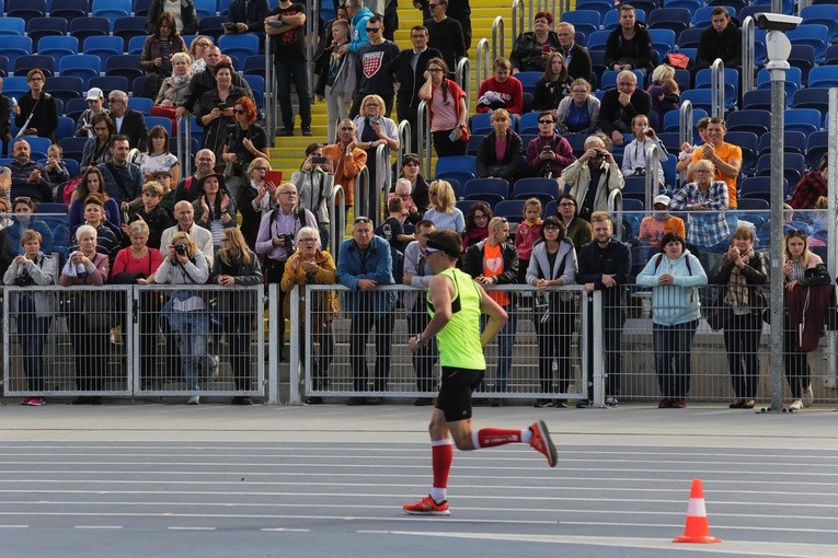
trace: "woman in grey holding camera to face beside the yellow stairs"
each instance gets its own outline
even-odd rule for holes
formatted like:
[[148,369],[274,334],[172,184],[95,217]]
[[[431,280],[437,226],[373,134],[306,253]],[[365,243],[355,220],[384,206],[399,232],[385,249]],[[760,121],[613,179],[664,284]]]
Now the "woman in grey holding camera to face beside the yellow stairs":
[[299,193],[299,207],[314,216],[322,248],[329,249],[329,198],[334,187],[334,168],[332,160],[323,155],[322,143],[311,143],[306,148],[306,159],[300,170],[291,175],[291,182]]

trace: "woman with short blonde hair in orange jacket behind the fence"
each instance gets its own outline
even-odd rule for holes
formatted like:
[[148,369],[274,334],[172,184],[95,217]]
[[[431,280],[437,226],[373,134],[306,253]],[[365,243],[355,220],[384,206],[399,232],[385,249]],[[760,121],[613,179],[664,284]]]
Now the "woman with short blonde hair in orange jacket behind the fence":
[[[306,284],[334,284],[337,279],[337,270],[332,255],[320,249],[320,233],[313,226],[303,226],[297,232],[297,252],[288,258],[285,265],[285,272],[279,283],[285,293],[289,293],[295,284],[305,289]],[[283,310],[285,317],[290,317],[290,300],[286,295]],[[312,316],[311,332],[313,334],[312,342],[303,341],[301,344],[300,358],[306,359],[306,351],[309,345],[320,346],[320,354],[313,360],[312,387],[314,390],[325,390],[329,386],[328,370],[334,354],[334,334],[332,330],[332,321],[337,316],[337,294],[334,291],[319,291],[317,297],[311,299],[312,307],[309,309]],[[303,302],[301,302],[303,304]],[[305,316],[303,309],[300,307]],[[305,323],[300,319],[301,333],[305,334]],[[305,339],[305,336],[300,336]],[[309,397],[310,405],[323,403],[319,396]]]

